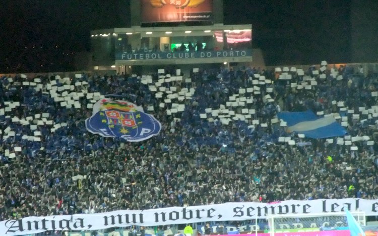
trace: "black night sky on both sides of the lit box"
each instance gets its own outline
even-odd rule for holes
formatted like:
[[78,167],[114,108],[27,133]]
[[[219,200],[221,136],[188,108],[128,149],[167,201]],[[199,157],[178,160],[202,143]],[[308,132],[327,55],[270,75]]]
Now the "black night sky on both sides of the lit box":
[[[224,2],[224,23],[252,24],[268,65],[350,61],[350,1]],[[129,0],[2,0],[0,72],[73,70],[90,31],[130,26],[129,9]]]

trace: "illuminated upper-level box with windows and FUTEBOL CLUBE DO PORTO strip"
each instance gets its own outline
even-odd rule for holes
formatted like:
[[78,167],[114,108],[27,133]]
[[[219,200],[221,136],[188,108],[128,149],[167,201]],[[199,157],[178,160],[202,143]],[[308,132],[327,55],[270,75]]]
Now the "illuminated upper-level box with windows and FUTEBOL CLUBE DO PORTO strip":
[[132,27],[91,32],[94,66],[252,61],[251,25]]

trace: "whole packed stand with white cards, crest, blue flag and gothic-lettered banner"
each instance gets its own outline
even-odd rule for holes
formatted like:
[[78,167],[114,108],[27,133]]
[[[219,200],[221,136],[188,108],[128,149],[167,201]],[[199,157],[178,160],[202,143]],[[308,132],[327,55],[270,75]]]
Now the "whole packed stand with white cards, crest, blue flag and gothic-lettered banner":
[[2,76],[1,234],[376,215],[376,74],[204,68]]

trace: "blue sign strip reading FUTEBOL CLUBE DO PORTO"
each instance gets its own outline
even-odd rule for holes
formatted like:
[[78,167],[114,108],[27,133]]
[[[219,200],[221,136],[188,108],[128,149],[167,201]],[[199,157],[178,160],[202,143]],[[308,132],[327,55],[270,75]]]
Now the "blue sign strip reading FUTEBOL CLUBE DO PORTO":
[[229,58],[250,57],[252,50],[226,50],[202,52],[143,52],[143,53],[117,53],[115,60],[161,60],[161,59],[195,59],[195,58]]

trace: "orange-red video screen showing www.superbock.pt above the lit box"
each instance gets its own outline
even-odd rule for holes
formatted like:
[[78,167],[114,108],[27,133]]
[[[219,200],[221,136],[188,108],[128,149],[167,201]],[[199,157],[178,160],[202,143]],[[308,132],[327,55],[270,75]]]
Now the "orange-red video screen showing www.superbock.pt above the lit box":
[[212,21],[212,0],[141,0],[142,23]]

